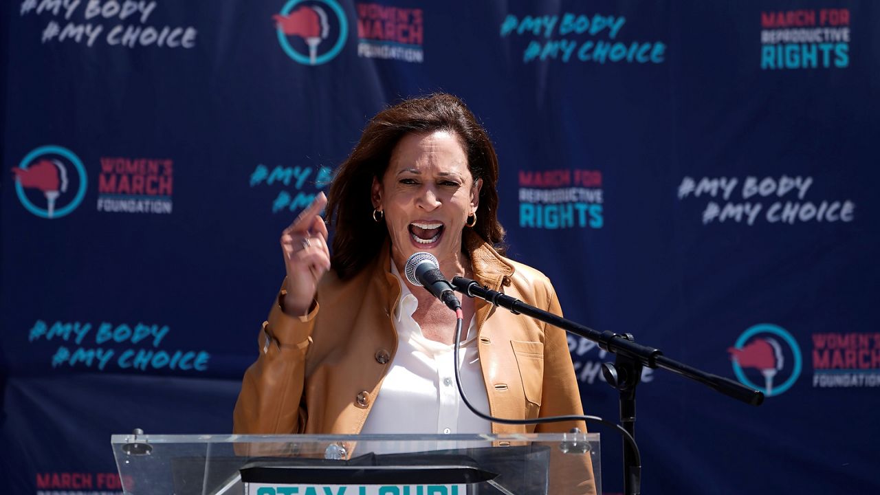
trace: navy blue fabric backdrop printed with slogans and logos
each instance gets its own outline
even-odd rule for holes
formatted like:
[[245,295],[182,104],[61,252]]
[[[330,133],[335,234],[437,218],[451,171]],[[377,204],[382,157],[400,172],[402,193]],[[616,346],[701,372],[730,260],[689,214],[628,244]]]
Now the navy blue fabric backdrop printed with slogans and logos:
[[[443,91],[568,317],[767,393],[644,373],[646,492],[880,490],[878,22],[840,0],[5,4],[0,482],[114,491],[110,434],[229,432],[279,233],[371,115]],[[584,409],[616,418],[613,356],[569,347]]]

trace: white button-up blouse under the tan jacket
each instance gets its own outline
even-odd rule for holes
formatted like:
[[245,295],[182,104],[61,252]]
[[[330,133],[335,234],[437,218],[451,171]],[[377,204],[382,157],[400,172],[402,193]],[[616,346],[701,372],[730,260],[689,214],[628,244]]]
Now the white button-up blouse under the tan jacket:
[[[467,409],[455,386],[452,345],[429,340],[413,319],[418,299],[400,278],[394,262],[391,270],[400,284],[394,310],[397,352],[361,430],[382,433],[491,433],[492,424]],[[462,387],[477,410],[488,414],[489,403],[474,318],[458,350]]]

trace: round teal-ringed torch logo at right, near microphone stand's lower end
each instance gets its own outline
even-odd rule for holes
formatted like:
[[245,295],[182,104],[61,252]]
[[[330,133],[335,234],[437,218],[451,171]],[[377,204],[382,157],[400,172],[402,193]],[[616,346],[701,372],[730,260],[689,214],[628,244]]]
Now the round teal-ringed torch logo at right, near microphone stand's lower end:
[[[788,352],[786,351],[788,348]],[[737,338],[737,343],[729,349],[733,373],[737,380],[746,387],[755,388],[771,397],[781,395],[795,384],[801,376],[803,357],[801,348],[795,337],[786,329],[771,323],[759,323],[744,331]],[[790,358],[791,363],[788,362]],[[752,382],[744,372],[744,368],[754,368],[764,377],[763,386]],[[790,369],[788,379],[776,383],[777,375]]]

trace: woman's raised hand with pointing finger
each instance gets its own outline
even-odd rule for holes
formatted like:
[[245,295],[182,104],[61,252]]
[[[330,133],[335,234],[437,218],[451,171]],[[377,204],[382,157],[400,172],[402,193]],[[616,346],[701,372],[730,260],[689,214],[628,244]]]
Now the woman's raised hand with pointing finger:
[[284,229],[281,249],[287,270],[287,295],[284,312],[292,316],[308,313],[318,291],[318,281],[330,270],[330,249],[327,247],[327,227],[320,212],[326,206],[323,192]]

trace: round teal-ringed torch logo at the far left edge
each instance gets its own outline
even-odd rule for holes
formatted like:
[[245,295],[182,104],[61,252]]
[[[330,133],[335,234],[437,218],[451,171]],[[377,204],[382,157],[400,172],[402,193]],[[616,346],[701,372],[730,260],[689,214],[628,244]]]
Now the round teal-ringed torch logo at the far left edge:
[[[12,172],[15,174],[18,200],[37,217],[61,218],[83,202],[88,184],[85,167],[79,157],[67,148],[51,144],[40,146],[27,153]],[[70,181],[74,178],[77,180],[76,193],[72,199],[68,199],[73,188]],[[26,189],[39,191],[41,197],[39,193],[29,194]]]

